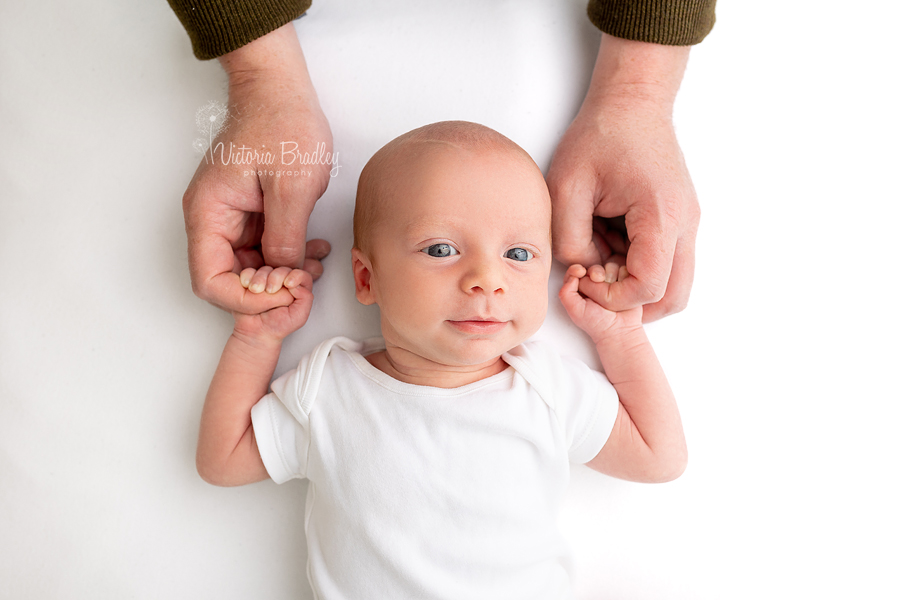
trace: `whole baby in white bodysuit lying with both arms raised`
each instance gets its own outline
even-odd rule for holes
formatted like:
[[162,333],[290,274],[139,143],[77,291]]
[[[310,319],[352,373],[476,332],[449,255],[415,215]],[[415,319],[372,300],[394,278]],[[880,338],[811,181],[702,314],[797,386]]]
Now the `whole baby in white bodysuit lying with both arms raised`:
[[569,267],[559,298],[606,376],[527,342],[544,320],[550,197],[499,133],[444,122],[387,144],[360,176],[356,297],[382,338],[328,340],[268,392],[312,278],[248,269],[248,293],[294,301],[235,314],[197,449],[202,477],[309,479],[307,574],[320,599],[572,598],[556,519],[571,463],[678,477],[675,399],[641,326],[579,293],[627,277]]

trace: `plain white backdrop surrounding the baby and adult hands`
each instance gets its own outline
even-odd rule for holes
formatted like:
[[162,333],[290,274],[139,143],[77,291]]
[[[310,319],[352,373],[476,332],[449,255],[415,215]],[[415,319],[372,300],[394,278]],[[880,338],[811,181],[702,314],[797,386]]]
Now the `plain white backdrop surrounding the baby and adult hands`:
[[[546,170],[599,43],[583,11],[317,0],[297,22],[342,168],[311,225],[335,251],[279,373],[323,336],[376,331],[349,239],[381,144],[467,119]],[[221,68],[162,0],[2,12],[0,598],[311,598],[305,483],[218,489],[193,466],[230,317],[191,294],[180,200]],[[900,594],[898,17],[723,1],[692,51],[676,125],[697,281],[648,328],[691,462],[661,486],[574,471],[580,598]],[[551,312],[539,335],[588,356]]]

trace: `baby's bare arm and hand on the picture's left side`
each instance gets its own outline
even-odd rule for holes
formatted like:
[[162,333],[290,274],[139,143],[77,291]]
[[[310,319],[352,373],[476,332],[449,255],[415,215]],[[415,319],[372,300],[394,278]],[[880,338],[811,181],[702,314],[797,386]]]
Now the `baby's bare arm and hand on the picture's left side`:
[[[249,282],[258,272],[252,269]],[[225,344],[219,366],[213,375],[197,442],[197,471],[207,482],[234,486],[268,478],[253,435],[250,409],[266,395],[282,340],[302,327],[312,307],[312,277],[298,269],[260,269],[263,287],[260,291],[282,285],[294,296],[294,302],[258,315],[234,314],[234,332]],[[273,277],[273,273],[277,272]],[[276,285],[277,284],[277,285]]]

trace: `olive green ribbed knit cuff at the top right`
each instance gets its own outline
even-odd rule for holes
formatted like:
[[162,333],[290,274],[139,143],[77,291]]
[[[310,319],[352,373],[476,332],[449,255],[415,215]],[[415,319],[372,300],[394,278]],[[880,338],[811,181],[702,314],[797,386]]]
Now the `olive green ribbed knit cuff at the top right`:
[[590,0],[588,18],[626,40],[691,46],[716,22],[716,0]]

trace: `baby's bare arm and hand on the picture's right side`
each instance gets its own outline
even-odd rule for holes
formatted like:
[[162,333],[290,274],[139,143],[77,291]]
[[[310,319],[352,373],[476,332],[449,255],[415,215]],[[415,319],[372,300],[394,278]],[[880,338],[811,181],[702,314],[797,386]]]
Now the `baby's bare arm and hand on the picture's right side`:
[[687,466],[687,446],[675,397],[641,324],[642,310],[612,312],[578,291],[586,275],[608,286],[627,275],[622,269],[572,265],[559,292],[569,317],[591,336],[619,395],[609,440],[588,466],[631,481],[671,481]]

